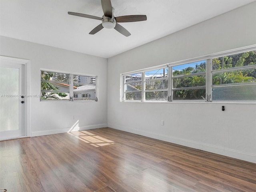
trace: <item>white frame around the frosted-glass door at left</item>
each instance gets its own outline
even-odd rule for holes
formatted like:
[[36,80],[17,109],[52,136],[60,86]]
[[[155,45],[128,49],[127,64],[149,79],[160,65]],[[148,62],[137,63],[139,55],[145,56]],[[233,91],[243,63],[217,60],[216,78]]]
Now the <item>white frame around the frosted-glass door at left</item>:
[[[31,130],[30,130],[30,60],[26,59],[20,59],[20,58],[14,58],[14,57],[7,57],[7,56],[1,56],[0,55],[0,62],[6,62],[6,63],[14,63],[14,64],[22,64],[25,66],[25,135],[21,136],[19,138],[23,137],[30,137],[31,136]],[[12,138],[10,138],[12,139]]]

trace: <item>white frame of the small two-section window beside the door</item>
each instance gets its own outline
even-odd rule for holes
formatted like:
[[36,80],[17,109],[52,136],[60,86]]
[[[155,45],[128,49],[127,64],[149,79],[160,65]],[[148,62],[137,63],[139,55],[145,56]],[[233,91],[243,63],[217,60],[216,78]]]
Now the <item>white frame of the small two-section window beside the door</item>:
[[[69,74],[69,99],[66,100],[62,100],[62,99],[41,99],[40,96],[40,102],[97,102],[98,101],[98,76],[96,75],[91,75],[91,74],[81,74],[81,73],[75,73],[75,72],[64,72],[64,71],[60,71],[60,70],[51,70],[51,69],[45,69],[45,68],[40,68],[40,95],[42,94],[42,90],[41,90],[41,83],[42,83],[42,71],[46,71],[46,72],[53,72],[53,73],[60,73],[60,74]],[[74,87],[74,80],[73,77],[74,75],[78,75],[78,76],[88,76],[88,77],[92,77],[95,78],[95,100],[76,100],[73,99],[74,98],[74,92],[73,92],[73,87]],[[52,92],[52,91],[49,91]],[[53,91],[56,92],[56,91]],[[62,92],[62,91],[60,91]]]

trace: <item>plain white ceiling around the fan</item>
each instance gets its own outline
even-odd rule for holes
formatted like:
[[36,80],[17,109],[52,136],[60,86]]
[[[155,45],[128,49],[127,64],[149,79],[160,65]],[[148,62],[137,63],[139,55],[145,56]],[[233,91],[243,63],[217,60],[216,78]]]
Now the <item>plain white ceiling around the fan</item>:
[[0,34],[109,58],[256,0],[111,0],[114,16],[145,14],[146,21],[120,23],[132,35],[103,28],[88,34],[102,17],[100,0],[0,0]]

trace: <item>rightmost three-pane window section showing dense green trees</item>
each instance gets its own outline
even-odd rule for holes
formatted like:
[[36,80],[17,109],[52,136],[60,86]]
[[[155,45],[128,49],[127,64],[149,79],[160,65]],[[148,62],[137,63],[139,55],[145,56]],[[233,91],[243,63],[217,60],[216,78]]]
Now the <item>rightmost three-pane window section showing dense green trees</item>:
[[256,52],[212,59],[212,100],[256,100]]

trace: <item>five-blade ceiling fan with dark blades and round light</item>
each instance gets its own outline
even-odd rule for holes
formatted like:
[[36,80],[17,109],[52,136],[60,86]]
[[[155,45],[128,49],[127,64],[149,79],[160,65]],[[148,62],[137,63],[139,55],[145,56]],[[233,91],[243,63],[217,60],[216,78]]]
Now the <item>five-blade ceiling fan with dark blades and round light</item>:
[[136,22],[136,21],[146,21],[147,16],[146,15],[126,15],[126,16],[118,16],[114,17],[114,8],[111,5],[110,0],[101,0],[102,10],[104,12],[104,15],[102,17],[82,14],[82,13],[75,13],[75,12],[68,12],[70,15],[79,16],[79,17],[85,17],[90,19],[96,19],[101,20],[102,23],[96,26],[89,34],[96,34],[103,28],[112,29],[114,28],[124,36],[128,37],[130,36],[130,32],[126,30],[124,27],[122,27],[118,23],[122,22]]

